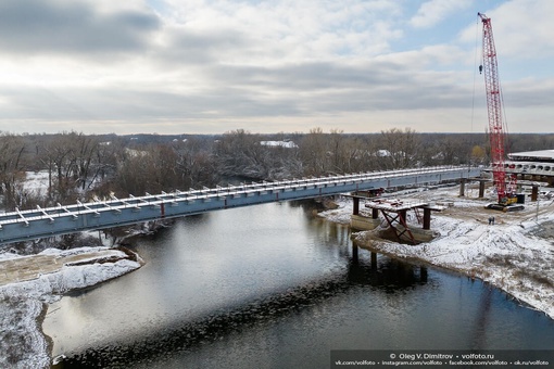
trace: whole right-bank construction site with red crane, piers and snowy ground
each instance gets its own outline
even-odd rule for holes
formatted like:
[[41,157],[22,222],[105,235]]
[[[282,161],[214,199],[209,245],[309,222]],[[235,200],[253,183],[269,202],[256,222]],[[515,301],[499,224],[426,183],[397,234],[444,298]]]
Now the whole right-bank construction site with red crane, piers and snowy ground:
[[320,216],[350,224],[353,247],[479,278],[554,318],[554,150],[506,153],[491,22],[478,16],[491,150],[481,178],[355,193]]

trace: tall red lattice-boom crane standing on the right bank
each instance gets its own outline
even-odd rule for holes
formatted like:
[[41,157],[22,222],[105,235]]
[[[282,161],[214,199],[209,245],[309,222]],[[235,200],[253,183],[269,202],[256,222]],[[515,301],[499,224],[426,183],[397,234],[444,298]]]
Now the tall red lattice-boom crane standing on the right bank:
[[516,177],[511,176],[511,186],[506,188],[506,169],[504,166],[506,126],[502,120],[502,97],[499,79],[496,48],[492,35],[491,18],[477,13],[482,21],[482,65],[479,71],[484,75],[487,90],[487,109],[489,115],[489,137],[491,144],[491,167],[499,204],[509,205],[516,202],[514,195]]

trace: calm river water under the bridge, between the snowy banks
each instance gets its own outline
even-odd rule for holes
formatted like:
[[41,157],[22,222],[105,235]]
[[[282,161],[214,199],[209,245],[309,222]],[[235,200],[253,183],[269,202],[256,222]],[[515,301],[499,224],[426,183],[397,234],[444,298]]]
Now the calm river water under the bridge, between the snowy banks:
[[331,349],[551,349],[554,321],[480,281],[360,249],[306,203],[182,218],[146,265],[52,304],[56,368],[328,368]]

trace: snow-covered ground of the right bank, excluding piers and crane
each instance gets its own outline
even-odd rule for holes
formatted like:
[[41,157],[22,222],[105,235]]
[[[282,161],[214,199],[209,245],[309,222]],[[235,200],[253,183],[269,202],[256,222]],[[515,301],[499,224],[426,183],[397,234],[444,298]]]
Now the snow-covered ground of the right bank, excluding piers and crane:
[[[453,205],[432,213],[431,229],[438,237],[431,242],[411,245],[385,240],[378,236],[382,228],[357,232],[355,241],[378,252],[482,279],[554,319],[554,200],[542,198],[539,206],[532,202],[521,212],[503,213],[486,209],[487,202],[471,199],[470,191],[459,198],[458,191],[456,187],[396,194],[407,201]],[[352,202],[343,199],[339,204],[339,208],[320,215],[349,222]],[[489,225],[492,216],[494,225]]]

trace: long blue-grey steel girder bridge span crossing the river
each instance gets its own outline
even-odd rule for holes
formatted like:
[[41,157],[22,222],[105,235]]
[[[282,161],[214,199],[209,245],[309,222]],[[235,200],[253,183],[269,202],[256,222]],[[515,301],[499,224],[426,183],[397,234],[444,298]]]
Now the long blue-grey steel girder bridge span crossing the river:
[[327,196],[353,191],[430,184],[479,177],[476,167],[441,166],[373,171],[202,190],[129,196],[92,203],[0,214],[0,245],[148,220],[182,217],[269,202]]

